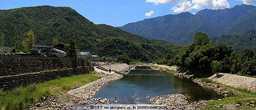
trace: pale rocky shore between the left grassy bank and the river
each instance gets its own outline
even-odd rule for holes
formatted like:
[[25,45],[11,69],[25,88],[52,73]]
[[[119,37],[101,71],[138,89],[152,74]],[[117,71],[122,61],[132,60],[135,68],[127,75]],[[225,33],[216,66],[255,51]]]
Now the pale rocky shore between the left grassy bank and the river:
[[75,105],[85,104],[108,104],[108,99],[92,98],[103,84],[107,84],[110,81],[121,79],[123,75],[116,73],[106,75],[97,73],[98,76],[102,77],[97,81],[90,82],[85,86],[74,88],[67,94],[60,94],[58,98],[53,95],[41,98],[30,109],[70,109]]

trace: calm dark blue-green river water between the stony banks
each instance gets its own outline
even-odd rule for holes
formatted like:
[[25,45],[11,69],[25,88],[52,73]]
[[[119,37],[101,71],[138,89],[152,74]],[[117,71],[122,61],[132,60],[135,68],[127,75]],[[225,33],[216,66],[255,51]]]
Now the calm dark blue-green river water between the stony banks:
[[122,79],[104,84],[93,98],[116,99],[116,104],[148,104],[150,98],[167,94],[190,96],[188,101],[217,100],[217,92],[204,88],[190,79],[180,78],[150,67],[136,67]]

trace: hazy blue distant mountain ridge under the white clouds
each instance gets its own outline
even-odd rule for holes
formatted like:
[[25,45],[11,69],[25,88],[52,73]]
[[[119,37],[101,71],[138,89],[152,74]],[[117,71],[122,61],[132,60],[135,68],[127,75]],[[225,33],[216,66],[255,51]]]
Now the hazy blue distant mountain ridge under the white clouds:
[[242,34],[256,29],[256,8],[252,5],[236,5],[231,9],[203,9],[197,14],[182,12],[150,18],[119,27],[148,39],[161,39],[179,45],[193,41],[196,32],[209,37],[223,34]]

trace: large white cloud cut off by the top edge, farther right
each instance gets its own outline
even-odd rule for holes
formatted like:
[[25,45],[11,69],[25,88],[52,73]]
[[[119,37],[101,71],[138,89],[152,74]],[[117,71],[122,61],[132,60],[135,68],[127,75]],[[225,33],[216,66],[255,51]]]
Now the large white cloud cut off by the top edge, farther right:
[[192,4],[194,4],[192,9],[197,10],[204,8],[225,9],[230,7],[227,0],[192,0]]

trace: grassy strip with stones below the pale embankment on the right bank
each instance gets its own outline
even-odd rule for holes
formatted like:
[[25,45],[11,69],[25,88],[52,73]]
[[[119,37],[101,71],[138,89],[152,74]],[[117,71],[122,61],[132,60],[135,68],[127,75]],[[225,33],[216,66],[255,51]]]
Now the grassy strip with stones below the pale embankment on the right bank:
[[[232,97],[223,98],[221,100],[213,100],[207,103],[206,109],[224,109],[224,106],[229,107],[229,109],[255,109],[256,103],[256,94],[253,94],[251,91],[241,88],[234,88],[232,86],[226,86],[219,82],[214,82],[211,79],[202,79],[203,82],[211,82],[216,84],[219,87],[230,89],[230,94],[233,94]],[[234,95],[236,94],[236,95]],[[253,105],[246,105],[247,103],[254,101]],[[236,107],[236,105],[240,105]],[[220,107],[222,105],[222,107]],[[200,108],[205,109],[205,108]],[[227,108],[226,108],[227,109]]]

